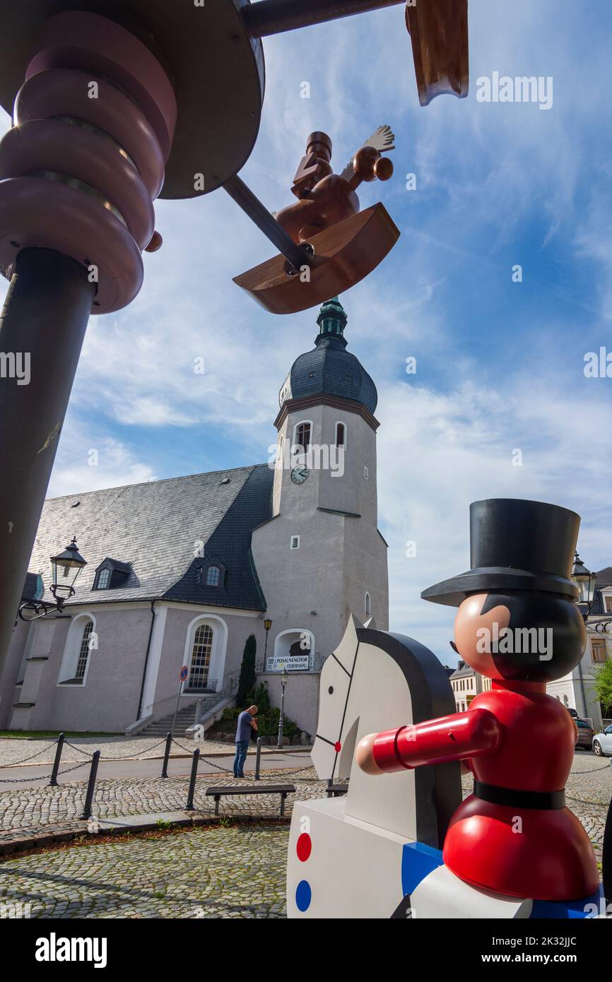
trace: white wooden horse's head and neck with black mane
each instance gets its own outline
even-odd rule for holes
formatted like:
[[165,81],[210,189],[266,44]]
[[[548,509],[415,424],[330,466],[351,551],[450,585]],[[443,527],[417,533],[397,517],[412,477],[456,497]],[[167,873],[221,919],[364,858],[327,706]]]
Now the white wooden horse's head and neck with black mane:
[[447,674],[428,648],[401,634],[361,627],[351,618],[321,672],[311,753],[319,778],[350,779],[347,818],[440,848],[461,803],[459,765],[388,775],[383,787],[357,766],[354,754],[362,736],[376,732],[377,720],[389,729],[454,712]]

